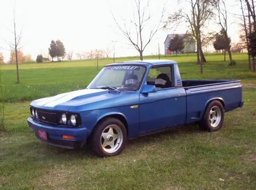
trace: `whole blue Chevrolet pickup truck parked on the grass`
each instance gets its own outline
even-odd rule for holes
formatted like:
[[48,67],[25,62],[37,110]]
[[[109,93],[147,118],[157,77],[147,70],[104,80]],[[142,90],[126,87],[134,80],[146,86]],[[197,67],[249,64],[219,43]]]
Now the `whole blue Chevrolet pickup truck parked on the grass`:
[[106,65],[86,89],[34,100],[27,121],[45,143],[89,143],[106,157],[128,139],[179,125],[217,131],[224,113],[242,106],[241,81],[181,80],[175,61],[129,61]]

